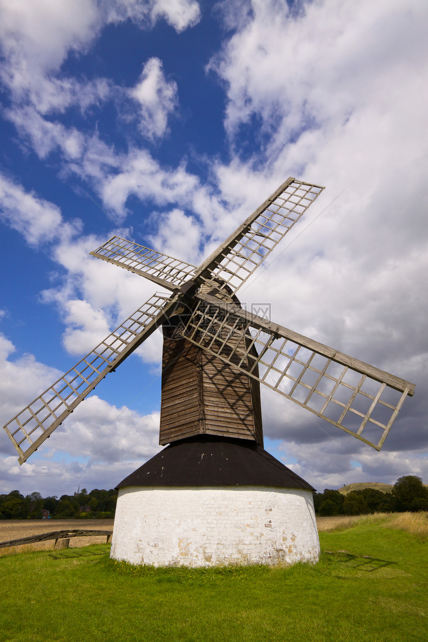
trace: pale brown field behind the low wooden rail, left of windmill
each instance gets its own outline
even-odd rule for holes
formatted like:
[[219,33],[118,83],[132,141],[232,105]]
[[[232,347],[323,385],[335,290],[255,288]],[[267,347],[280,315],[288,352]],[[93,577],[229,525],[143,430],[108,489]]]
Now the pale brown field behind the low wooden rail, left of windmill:
[[[40,535],[53,530],[67,530],[82,528],[85,530],[113,530],[114,519],[0,519],[0,542]],[[105,544],[106,537],[72,537],[70,548],[89,546],[89,544]],[[1,555],[10,555],[24,550],[46,550],[55,546],[55,539],[39,544],[0,548]]]

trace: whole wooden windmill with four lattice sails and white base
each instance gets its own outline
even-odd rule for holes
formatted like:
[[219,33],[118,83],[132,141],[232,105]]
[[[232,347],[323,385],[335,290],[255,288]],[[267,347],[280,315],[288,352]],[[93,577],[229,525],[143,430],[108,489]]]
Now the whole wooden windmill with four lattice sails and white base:
[[112,557],[211,566],[316,561],[312,487],[263,449],[260,383],[380,450],[415,385],[241,308],[236,292],[323,187],[288,178],[199,267],[113,237],[95,257],[157,293],[4,426],[26,461],[162,326],[160,444],[119,483]]

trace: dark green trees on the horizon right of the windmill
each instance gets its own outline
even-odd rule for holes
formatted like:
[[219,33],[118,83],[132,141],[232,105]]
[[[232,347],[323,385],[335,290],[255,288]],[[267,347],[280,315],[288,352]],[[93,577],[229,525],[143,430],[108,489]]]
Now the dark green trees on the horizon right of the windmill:
[[428,510],[428,488],[420,477],[406,475],[395,482],[391,492],[365,488],[343,495],[339,490],[325,489],[314,493],[314,508],[320,516],[417,512]]

